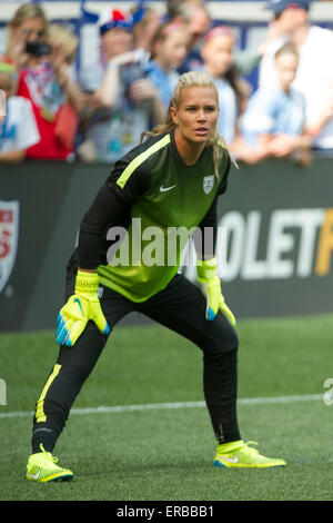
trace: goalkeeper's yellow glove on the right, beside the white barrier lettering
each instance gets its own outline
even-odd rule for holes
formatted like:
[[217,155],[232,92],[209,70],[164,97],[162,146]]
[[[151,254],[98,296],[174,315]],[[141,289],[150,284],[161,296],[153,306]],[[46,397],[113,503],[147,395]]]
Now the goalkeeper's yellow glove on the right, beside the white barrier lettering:
[[209,322],[214,319],[220,309],[226,319],[229,319],[231,325],[235,326],[235,317],[225,304],[221,292],[221,283],[216,269],[216,258],[211,258],[205,262],[198,260],[196,274],[200,289],[206,300],[206,319]]

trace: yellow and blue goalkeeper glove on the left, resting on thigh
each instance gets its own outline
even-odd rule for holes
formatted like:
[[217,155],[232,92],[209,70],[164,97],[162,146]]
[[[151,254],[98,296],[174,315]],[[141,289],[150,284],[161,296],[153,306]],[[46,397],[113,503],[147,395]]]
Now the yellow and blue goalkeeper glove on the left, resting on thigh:
[[110,326],[102,313],[98,297],[99,276],[97,273],[78,270],[74,294],[61,308],[57,318],[56,338],[59,345],[71,347],[85,328],[89,319],[95,323],[102,334],[110,333]]

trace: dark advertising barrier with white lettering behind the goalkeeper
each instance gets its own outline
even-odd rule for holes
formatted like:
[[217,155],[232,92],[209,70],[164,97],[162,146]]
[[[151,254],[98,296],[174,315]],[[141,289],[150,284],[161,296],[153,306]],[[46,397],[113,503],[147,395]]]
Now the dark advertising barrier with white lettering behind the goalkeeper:
[[[223,294],[239,318],[333,310],[333,160],[232,168],[220,198]],[[0,172],[0,329],[52,328],[81,217],[110,166],[24,162]]]

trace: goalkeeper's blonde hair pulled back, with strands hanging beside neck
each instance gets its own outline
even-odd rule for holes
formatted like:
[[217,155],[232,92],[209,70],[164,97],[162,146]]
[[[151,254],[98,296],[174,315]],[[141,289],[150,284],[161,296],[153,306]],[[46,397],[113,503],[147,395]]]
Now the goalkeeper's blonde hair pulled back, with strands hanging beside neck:
[[[199,72],[199,71],[190,71],[190,72],[185,72],[184,75],[181,75],[172,93],[165,122],[160,126],[157,126],[151,132],[143,132],[142,139],[147,135],[149,136],[162,135],[163,132],[170,131],[176,127],[176,125],[174,124],[172,119],[171,108],[172,107],[174,109],[179,108],[180,95],[181,95],[182,89],[184,89],[185,87],[211,87],[215,91],[216,100],[219,100],[218,89],[215,87],[214,81],[209,75],[204,72]],[[213,138],[211,138],[209,142],[206,144],[206,147],[212,147],[214,170],[215,170],[214,174],[219,178],[219,165],[223,157],[223,154],[225,154],[228,149],[226,149],[225,141],[223,137],[219,135],[218,129],[215,130]]]

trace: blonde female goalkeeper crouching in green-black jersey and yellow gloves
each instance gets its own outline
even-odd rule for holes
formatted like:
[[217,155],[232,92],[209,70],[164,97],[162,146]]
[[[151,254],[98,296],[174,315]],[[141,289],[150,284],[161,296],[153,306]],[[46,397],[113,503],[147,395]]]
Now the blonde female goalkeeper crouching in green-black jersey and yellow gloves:
[[[84,215],[58,317],[59,357],[36,404],[29,480],[72,478],[52,455],[56,442],[110,333],[133,310],[201,348],[204,398],[218,442],[214,465],[285,465],[245,444],[238,426],[235,319],[221,294],[214,255],[216,201],[231,165],[218,118],[210,77],[182,75],[165,125],[115,164]],[[194,229],[201,233],[194,233],[199,286],[178,273],[181,246],[173,241],[175,230]],[[152,231],[154,249],[147,240]]]

